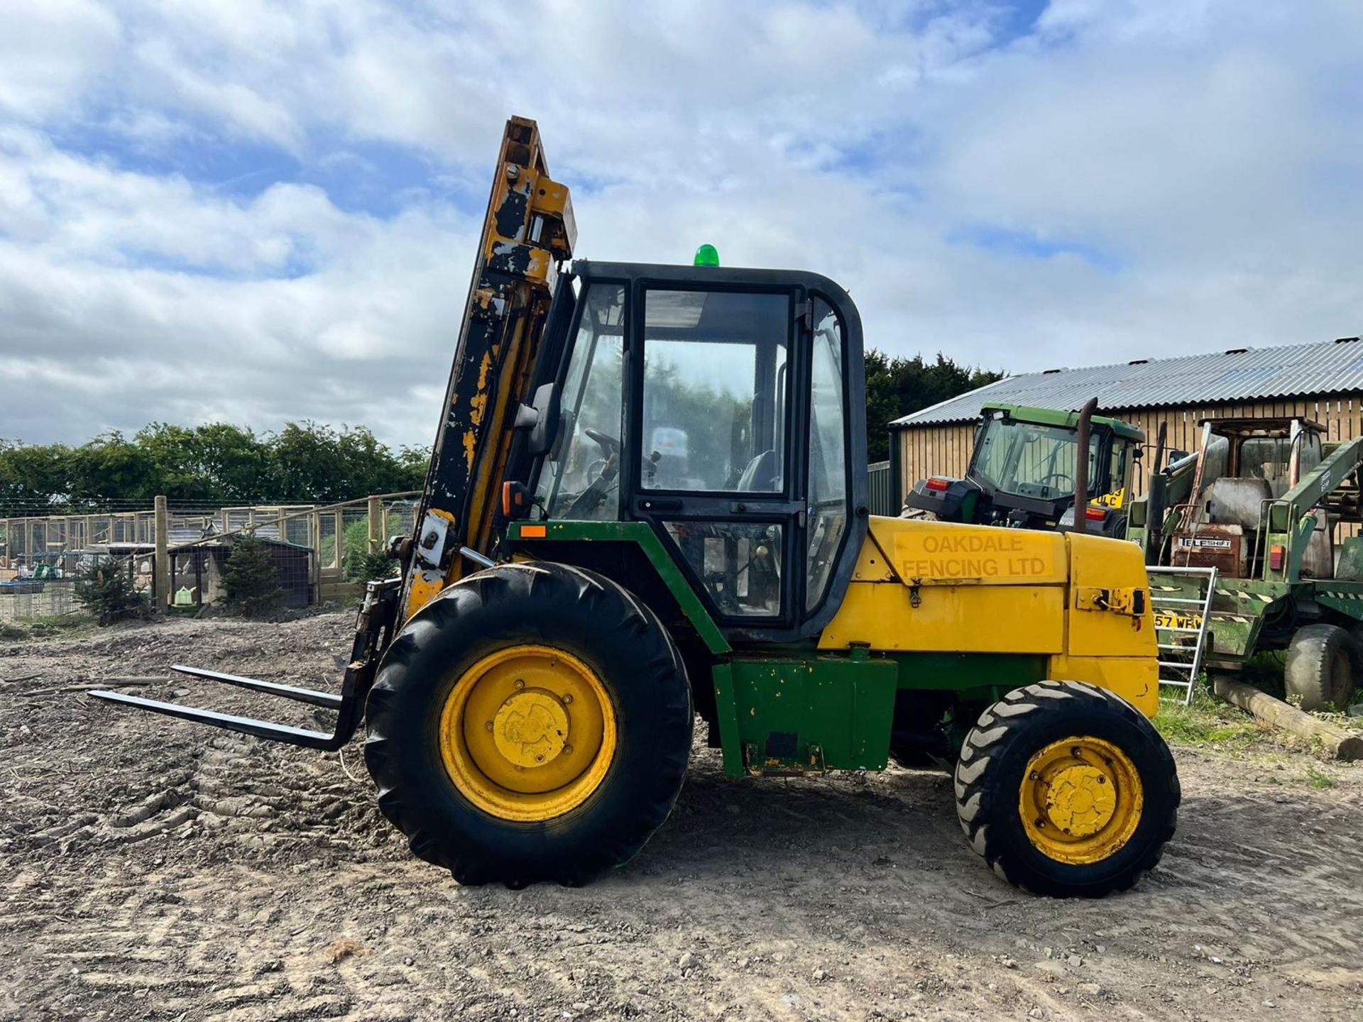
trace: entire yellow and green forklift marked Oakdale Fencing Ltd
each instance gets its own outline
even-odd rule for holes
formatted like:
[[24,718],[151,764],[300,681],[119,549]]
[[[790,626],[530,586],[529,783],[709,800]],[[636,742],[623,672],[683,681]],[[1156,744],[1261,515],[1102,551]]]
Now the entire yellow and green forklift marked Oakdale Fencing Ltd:
[[[1139,549],[867,512],[861,322],[812,273],[567,262],[568,191],[507,124],[414,534],[369,583],[331,733],[462,883],[585,883],[667,819],[696,714],[731,777],[955,771],[994,871],[1126,888],[1174,833]],[[887,822],[887,826],[889,822]]]

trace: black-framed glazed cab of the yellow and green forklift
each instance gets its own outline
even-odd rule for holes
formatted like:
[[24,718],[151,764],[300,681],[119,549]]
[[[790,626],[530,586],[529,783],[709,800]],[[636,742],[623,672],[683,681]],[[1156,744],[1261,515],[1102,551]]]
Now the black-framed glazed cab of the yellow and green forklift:
[[643,522],[721,628],[816,634],[867,527],[848,294],[807,273],[578,260],[545,345],[526,512]]

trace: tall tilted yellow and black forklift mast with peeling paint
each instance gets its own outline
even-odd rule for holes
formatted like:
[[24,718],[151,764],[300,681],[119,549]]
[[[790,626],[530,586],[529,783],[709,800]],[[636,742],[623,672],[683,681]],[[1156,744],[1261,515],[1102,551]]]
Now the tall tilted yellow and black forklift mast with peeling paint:
[[512,443],[507,416],[536,371],[557,264],[575,241],[568,188],[549,177],[536,123],[511,117],[414,531],[395,542],[399,624],[470,564],[485,566]]

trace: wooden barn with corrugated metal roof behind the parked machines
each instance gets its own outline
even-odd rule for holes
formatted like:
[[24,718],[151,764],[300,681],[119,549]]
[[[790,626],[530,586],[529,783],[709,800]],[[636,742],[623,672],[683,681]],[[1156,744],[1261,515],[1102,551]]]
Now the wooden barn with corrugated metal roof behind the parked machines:
[[[1363,432],[1363,342],[1341,337],[1005,376],[890,422],[897,499],[925,476],[965,471],[985,403],[1073,412],[1093,397],[1104,416],[1139,427],[1152,444],[1160,424],[1168,424],[1171,450],[1195,450],[1198,422],[1232,416],[1304,416],[1323,425],[1330,440],[1347,440]],[[1138,495],[1145,489],[1139,473],[1135,489]]]

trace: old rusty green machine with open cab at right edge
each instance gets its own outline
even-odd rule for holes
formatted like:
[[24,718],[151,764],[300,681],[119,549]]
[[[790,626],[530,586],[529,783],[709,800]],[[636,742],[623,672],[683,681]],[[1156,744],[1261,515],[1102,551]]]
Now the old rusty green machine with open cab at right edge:
[[1328,442],[1306,418],[1204,420],[1198,451],[1156,470],[1130,507],[1129,538],[1146,563],[1174,568],[1152,582],[1171,645],[1202,628],[1194,572],[1216,568],[1210,666],[1235,670],[1287,650],[1289,699],[1306,710],[1348,706],[1363,635],[1363,537],[1337,537],[1336,526],[1363,525],[1360,463],[1363,439]]

